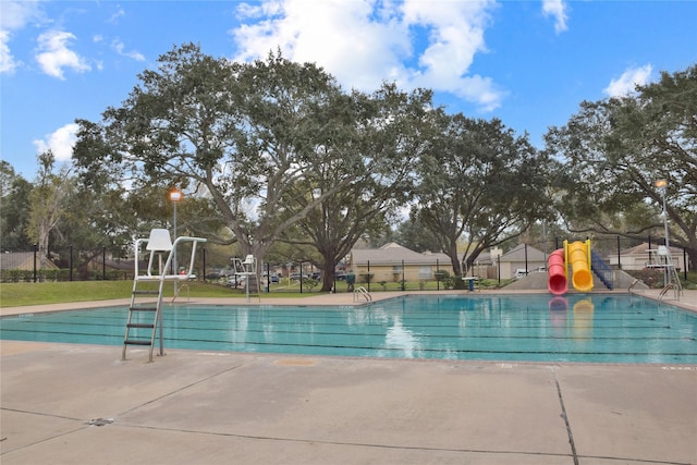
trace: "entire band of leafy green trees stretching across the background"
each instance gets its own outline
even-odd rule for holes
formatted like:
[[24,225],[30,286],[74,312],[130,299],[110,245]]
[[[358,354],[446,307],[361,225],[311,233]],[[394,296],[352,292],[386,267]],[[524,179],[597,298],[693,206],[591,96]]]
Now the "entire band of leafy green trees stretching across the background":
[[346,93],[280,52],[240,63],[193,44],[162,54],[100,121],[77,122],[66,171],[53,172],[50,152],[34,184],[0,166],[3,247],[122,254],[170,221],[178,187],[187,234],[259,259],[276,243],[322,269],[328,291],[337,262],[408,207],[399,234],[464,274],[540,220],[555,234],[660,235],[655,182],[665,179],[671,244],[697,262],[697,66],[582,102],[543,150],[497,119],[433,108],[428,89]]

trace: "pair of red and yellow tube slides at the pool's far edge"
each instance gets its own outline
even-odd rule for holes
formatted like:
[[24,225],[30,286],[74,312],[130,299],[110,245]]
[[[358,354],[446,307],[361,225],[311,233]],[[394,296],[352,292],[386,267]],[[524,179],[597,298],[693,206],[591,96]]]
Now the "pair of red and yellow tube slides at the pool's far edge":
[[564,248],[552,252],[547,260],[549,278],[547,289],[554,295],[562,295],[568,289],[566,277],[567,265],[571,265],[572,284],[578,292],[592,290],[590,272],[590,241],[576,241]]

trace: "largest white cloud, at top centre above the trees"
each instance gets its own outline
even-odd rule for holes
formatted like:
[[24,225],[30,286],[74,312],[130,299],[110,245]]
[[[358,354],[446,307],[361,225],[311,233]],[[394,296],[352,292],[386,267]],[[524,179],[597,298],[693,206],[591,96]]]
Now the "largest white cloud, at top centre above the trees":
[[474,102],[484,110],[503,94],[489,77],[468,75],[478,52],[490,1],[306,0],[242,3],[246,24],[231,30],[236,60],[266,57],[280,48],[297,62],[316,62],[347,88],[377,89],[384,81],[402,88],[429,87]]

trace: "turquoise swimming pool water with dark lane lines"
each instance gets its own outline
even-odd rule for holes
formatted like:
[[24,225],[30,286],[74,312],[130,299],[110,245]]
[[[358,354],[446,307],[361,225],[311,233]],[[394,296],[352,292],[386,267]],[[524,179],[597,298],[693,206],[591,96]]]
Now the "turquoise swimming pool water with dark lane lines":
[[[5,340],[123,344],[125,307],[1,320]],[[697,364],[697,315],[631,295],[419,295],[358,307],[168,306],[164,347],[348,357]]]

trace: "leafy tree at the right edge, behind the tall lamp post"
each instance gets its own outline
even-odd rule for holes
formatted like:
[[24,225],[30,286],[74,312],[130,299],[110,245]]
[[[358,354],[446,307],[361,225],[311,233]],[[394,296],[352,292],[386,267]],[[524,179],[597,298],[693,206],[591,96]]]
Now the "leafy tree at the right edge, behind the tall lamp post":
[[572,230],[627,237],[662,233],[668,181],[671,244],[697,262],[697,65],[637,86],[636,94],[584,101],[545,140],[563,163],[559,209]]

